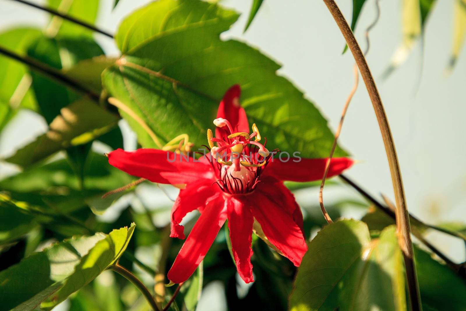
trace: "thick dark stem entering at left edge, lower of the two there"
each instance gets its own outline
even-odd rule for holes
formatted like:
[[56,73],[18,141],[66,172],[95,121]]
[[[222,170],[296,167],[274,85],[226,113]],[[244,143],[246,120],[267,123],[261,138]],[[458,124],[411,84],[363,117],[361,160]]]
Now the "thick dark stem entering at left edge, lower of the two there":
[[70,79],[69,77],[63,75],[62,72],[60,72],[57,69],[51,68],[51,67],[49,67],[47,65],[44,65],[43,63],[38,62],[38,61],[34,60],[31,57],[18,55],[15,52],[10,51],[10,50],[8,50],[6,48],[3,48],[3,47],[0,47],[0,54],[3,54],[5,56],[7,56],[7,57],[10,57],[10,58],[14,59],[15,61],[21,62],[21,63],[29,66],[31,69],[40,71],[41,73],[46,74],[47,76],[49,76],[49,77],[51,77],[51,78],[53,78],[53,79],[55,79],[55,80],[57,80],[59,82],[65,83],[69,87],[71,87],[72,89],[74,89],[74,90],[76,90],[76,91],[78,91],[80,93],[84,93],[84,94],[88,95],[89,97],[91,97],[92,99],[94,99],[96,101],[99,100],[99,95],[93,93],[90,90],[87,90],[81,84],[79,84],[76,81]]

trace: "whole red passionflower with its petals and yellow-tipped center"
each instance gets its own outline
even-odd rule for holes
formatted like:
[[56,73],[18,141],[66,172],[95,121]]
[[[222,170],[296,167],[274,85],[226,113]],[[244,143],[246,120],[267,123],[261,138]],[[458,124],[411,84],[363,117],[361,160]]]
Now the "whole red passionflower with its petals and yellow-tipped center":
[[[171,211],[171,237],[184,239],[179,223],[195,209],[201,213],[168,272],[173,283],[184,282],[192,275],[226,219],[236,267],[246,283],[254,281],[250,260],[254,221],[295,266],[300,265],[307,250],[301,210],[283,181],[320,180],[327,159],[273,159],[260,143],[255,124],[248,134],[249,124],[239,97],[238,85],[226,91],[214,120],[216,137],[208,130],[211,154],[207,156],[195,159],[156,149],[118,149],[108,155],[112,166],[131,175],[185,185]],[[337,175],[352,164],[348,158],[332,159],[328,175]]]

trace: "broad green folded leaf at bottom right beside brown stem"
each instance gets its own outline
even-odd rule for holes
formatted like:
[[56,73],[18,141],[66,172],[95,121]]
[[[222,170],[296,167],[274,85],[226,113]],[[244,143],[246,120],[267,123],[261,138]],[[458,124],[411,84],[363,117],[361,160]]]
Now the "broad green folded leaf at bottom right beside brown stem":
[[394,226],[370,240],[362,221],[337,221],[308,246],[290,297],[292,311],[406,310]]

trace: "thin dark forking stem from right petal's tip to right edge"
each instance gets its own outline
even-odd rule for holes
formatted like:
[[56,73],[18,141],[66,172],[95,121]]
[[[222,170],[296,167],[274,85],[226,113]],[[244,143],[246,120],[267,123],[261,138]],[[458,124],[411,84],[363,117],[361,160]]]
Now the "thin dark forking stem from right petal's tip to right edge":
[[[358,186],[353,180],[350,180],[348,177],[346,177],[345,175],[343,174],[340,174],[340,178],[343,179],[346,183],[348,183],[351,187],[353,187],[357,192],[359,192],[364,198],[366,198],[367,200],[369,200],[372,204],[374,204],[375,207],[377,207],[378,209],[380,209],[382,212],[384,212],[385,214],[387,214],[388,216],[390,216],[393,220],[395,220],[395,212],[393,211],[393,209],[391,209],[390,207],[388,206],[385,206],[384,204],[380,203],[377,199],[375,199],[372,195],[370,195],[369,193],[367,193],[367,191],[365,191],[363,188],[361,188],[360,186]],[[432,228],[432,229],[435,229],[434,226],[430,226],[428,224],[425,224],[424,222],[422,221],[419,221],[415,216],[412,216],[410,214],[410,218],[413,220],[413,221],[418,221],[420,224],[422,224],[423,226],[425,227],[428,227],[428,228]],[[439,249],[437,249],[435,246],[433,246],[430,242],[428,242],[427,240],[425,240],[424,236],[422,236],[422,234],[418,231],[418,230],[412,230],[412,234],[414,236],[416,236],[418,238],[419,241],[421,241],[425,246],[427,246],[430,250],[432,250],[432,252],[439,256],[443,261],[445,261],[446,265],[451,268],[453,271],[455,271],[455,273],[458,273],[459,276],[461,276],[462,278],[464,278],[464,276],[459,273],[459,268],[460,268],[460,265],[457,264],[457,263],[453,263],[445,254],[443,254]],[[457,235],[454,235],[454,236],[457,236]]]

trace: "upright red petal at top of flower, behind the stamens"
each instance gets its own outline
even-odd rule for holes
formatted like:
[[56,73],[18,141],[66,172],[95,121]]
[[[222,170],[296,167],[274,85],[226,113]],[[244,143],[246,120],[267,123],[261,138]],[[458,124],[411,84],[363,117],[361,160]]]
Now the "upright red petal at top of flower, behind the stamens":
[[[249,133],[249,123],[247,122],[246,111],[244,111],[244,108],[241,107],[239,102],[240,94],[241,88],[238,84],[229,88],[220,102],[217,117],[227,119],[232,125],[233,131]],[[217,127],[215,129],[215,136],[217,138],[226,137],[226,131],[223,128]]]

